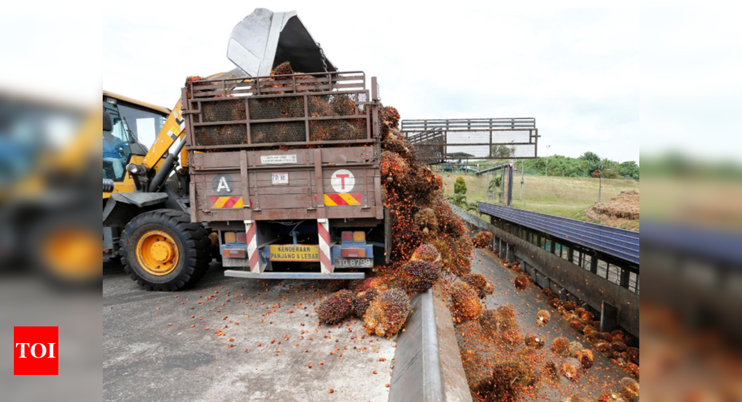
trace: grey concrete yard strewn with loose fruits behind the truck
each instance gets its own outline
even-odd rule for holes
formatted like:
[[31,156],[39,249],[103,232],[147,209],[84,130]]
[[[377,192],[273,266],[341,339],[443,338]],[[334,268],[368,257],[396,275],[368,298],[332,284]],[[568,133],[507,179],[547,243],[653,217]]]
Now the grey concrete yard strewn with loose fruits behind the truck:
[[320,326],[327,282],[214,264],[194,288],[147,292],[120,264],[103,270],[103,401],[388,400],[395,341],[355,318]]

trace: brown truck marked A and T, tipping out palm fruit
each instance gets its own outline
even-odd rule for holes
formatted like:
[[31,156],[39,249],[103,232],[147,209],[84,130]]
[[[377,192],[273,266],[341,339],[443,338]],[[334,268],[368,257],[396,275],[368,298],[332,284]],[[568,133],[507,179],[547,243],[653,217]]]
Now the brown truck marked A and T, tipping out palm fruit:
[[217,233],[225,275],[358,279],[388,262],[375,77],[191,81],[181,102],[191,221]]

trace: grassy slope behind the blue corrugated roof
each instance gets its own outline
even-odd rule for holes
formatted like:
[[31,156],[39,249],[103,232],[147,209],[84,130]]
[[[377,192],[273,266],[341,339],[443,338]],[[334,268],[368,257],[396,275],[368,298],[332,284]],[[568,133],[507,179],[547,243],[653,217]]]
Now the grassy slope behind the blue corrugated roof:
[[[454,175],[441,173],[446,195],[453,195],[453,182],[462,176],[467,184],[467,201],[487,201],[485,175]],[[582,211],[598,201],[597,178],[568,178],[525,175],[523,201],[520,201],[520,176],[513,182],[513,207],[585,220]],[[603,179],[603,201],[614,198],[622,190],[639,191],[639,182],[623,179]],[[490,201],[496,204],[496,201]]]

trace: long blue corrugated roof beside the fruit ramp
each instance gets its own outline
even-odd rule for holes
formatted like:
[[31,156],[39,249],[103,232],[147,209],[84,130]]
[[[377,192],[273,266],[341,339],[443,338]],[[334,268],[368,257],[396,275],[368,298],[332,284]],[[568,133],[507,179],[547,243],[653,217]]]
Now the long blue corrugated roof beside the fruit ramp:
[[639,232],[485,202],[479,212],[639,265]]

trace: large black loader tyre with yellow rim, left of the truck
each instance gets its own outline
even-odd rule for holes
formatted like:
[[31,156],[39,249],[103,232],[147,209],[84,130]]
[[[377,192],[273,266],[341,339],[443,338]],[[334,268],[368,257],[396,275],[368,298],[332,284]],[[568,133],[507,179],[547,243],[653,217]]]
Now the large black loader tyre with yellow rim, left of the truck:
[[209,233],[185,212],[137,215],[121,235],[125,271],[147,290],[174,291],[194,284],[209,269]]

